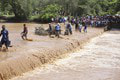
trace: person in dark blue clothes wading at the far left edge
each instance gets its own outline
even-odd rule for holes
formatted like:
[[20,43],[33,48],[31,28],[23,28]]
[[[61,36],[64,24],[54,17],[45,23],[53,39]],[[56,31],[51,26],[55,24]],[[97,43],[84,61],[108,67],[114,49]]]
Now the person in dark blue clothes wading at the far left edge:
[[2,36],[1,42],[0,42],[0,49],[2,48],[3,45],[5,45],[6,49],[8,49],[9,47],[9,36],[8,35],[9,35],[8,31],[6,30],[5,25],[3,25],[1,33],[0,33],[0,37]]

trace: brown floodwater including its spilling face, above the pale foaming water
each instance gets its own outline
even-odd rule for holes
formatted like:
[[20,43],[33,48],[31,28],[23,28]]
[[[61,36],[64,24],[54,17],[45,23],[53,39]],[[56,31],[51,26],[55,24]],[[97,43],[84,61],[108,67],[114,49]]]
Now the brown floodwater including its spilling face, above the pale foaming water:
[[[62,55],[82,47],[89,39],[103,33],[103,29],[88,28],[88,33],[74,31],[71,36],[62,34],[60,39],[49,38],[49,36],[34,34],[35,27],[41,24],[27,23],[29,38],[33,41],[23,41],[20,37],[23,23],[1,23],[0,26],[3,24],[10,31],[13,47],[9,49],[9,52],[0,52],[0,80],[10,79],[43,64],[53,62]],[[43,24],[42,27],[47,28],[48,24]],[[64,28],[62,24],[63,31]]]

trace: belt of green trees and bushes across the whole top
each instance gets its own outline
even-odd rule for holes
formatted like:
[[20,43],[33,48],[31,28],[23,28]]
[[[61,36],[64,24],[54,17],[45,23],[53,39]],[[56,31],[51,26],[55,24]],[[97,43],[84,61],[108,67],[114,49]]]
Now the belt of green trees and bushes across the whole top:
[[15,15],[17,19],[31,19],[40,15],[42,21],[51,17],[116,14],[120,0],[0,0],[0,15]]

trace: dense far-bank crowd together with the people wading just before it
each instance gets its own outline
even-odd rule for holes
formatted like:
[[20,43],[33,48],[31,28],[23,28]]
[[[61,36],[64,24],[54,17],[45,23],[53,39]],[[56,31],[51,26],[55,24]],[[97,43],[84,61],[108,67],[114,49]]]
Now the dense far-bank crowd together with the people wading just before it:
[[[75,31],[87,33],[87,27],[105,27],[110,26],[111,24],[120,24],[120,16],[86,16],[86,17],[57,17],[51,19],[52,23],[56,23],[55,35],[59,37],[61,34],[61,26],[59,23],[64,23],[66,30],[64,35],[72,35],[73,26]],[[52,35],[53,27],[52,23],[49,24],[49,35]]]

